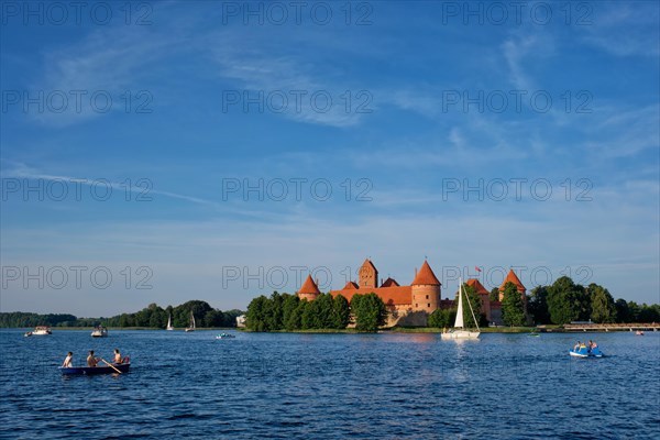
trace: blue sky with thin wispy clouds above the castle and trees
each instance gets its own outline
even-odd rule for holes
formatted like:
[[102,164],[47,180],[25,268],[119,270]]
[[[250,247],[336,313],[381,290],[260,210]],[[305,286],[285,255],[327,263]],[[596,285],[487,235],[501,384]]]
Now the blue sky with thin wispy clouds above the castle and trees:
[[660,301],[658,2],[50,4],[2,3],[2,311],[244,308],[367,256]]

